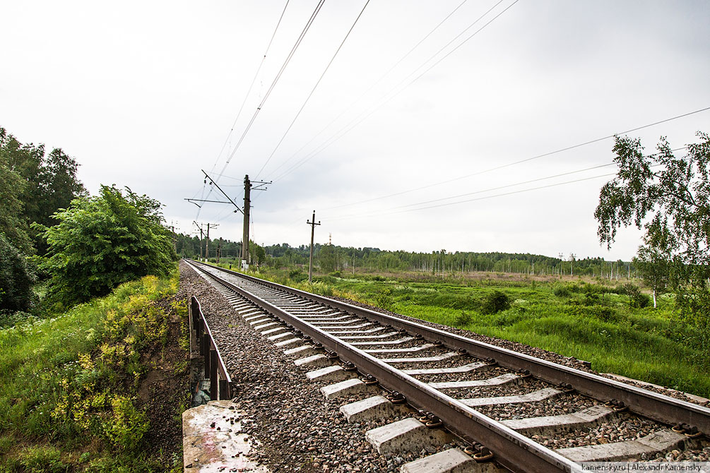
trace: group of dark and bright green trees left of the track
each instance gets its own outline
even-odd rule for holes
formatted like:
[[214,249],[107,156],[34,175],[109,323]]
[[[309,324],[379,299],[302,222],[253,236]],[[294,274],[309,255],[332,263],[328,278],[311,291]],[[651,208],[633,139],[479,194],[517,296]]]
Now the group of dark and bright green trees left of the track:
[[[0,326],[174,267],[160,202],[113,186],[89,196],[78,166],[60,148],[47,153],[0,128]],[[48,280],[41,308],[38,279]]]

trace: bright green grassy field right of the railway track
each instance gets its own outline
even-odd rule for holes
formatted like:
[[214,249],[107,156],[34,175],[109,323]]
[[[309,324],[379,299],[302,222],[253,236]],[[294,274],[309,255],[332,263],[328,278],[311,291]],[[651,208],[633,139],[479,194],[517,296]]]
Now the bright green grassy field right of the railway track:
[[[672,296],[658,308],[632,307],[618,286],[601,281],[427,279],[408,274],[324,276],[309,289],[297,270],[263,269],[259,277],[319,294],[349,297],[407,316],[588,360],[613,372],[710,397],[710,360],[700,338],[677,322]],[[510,308],[481,313],[502,291]]]

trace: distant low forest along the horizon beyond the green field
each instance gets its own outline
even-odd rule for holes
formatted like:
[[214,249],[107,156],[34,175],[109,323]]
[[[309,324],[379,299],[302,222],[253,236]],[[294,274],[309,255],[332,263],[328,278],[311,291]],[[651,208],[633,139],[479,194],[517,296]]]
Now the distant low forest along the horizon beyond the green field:
[[[249,242],[251,263],[270,267],[295,267],[308,265],[308,245],[292,247],[288,243],[261,247]],[[183,257],[200,257],[200,238],[182,233],[176,235],[175,249]],[[217,260],[217,252],[223,260],[237,259],[241,254],[241,242],[218,238],[209,240],[209,259]],[[204,257],[204,240],[202,241]],[[313,246],[314,265],[321,272],[348,272],[356,268],[362,272],[420,271],[434,274],[457,272],[508,272],[518,274],[571,274],[592,277],[636,277],[630,262],[606,261],[603,258],[577,260],[574,255],[564,259],[528,253],[501,252],[448,252],[437,250],[430,253],[387,251],[379,248],[354,248],[337,245]]]

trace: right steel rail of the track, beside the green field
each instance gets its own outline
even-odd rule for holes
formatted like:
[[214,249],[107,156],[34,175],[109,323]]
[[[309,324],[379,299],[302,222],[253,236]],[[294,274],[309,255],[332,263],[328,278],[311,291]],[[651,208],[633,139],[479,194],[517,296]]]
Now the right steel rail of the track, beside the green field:
[[221,267],[207,266],[251,280],[252,282],[277,287],[290,294],[301,296],[310,301],[319,302],[320,304],[325,304],[332,308],[337,308],[340,311],[353,313],[356,316],[368,318],[382,323],[383,325],[391,325],[394,328],[407,330],[410,333],[419,333],[424,338],[427,338],[427,340],[439,341],[444,343],[447,347],[466,350],[471,355],[482,359],[493,358],[503,367],[528,369],[533,376],[553,384],[572,384],[572,387],[579,393],[599,401],[609,401],[611,399],[622,401],[628,406],[630,411],[640,416],[652,418],[655,421],[671,425],[686,423],[697,427],[702,432],[710,433],[710,408],[706,406],[675,399],[670,396],[665,396],[664,394],[639,388],[638,386],[618,382],[615,379],[601,377],[598,374],[558,365],[557,363],[541,360],[540,358],[525,355],[524,353],[508,350],[507,348],[497,347],[496,345],[479,342],[478,340],[471,340],[470,338],[444,332],[444,330],[432,328],[420,323],[405,321],[401,318],[388,316],[367,308],[328,299],[327,297],[318,296],[316,294],[310,294],[309,292],[284,286],[283,284],[265,281]]

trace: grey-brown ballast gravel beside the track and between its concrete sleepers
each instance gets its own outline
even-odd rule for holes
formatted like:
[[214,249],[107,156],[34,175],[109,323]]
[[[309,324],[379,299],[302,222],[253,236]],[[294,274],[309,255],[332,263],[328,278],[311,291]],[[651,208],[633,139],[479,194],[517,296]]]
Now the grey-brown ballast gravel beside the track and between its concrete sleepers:
[[[452,446],[444,445],[432,452],[417,454],[379,455],[365,440],[365,432],[387,422],[368,422],[349,424],[339,412],[339,407],[348,402],[364,399],[373,395],[367,394],[351,399],[326,401],[319,389],[326,383],[309,382],[305,377],[307,369],[299,369],[293,364],[293,358],[283,354],[283,350],[257,335],[253,328],[239,316],[236,316],[231,304],[200,277],[184,262],[180,263],[180,284],[187,294],[200,299],[204,313],[208,318],[210,328],[222,352],[222,357],[237,385],[235,401],[251,418],[244,424],[244,432],[253,435],[263,444],[261,451],[255,455],[255,460],[266,464],[273,472],[303,471],[303,472],[398,472],[401,464],[415,460],[432,452],[446,450]],[[410,321],[428,325],[449,333],[457,333],[485,343],[491,343],[510,350],[516,350],[544,360],[581,369],[586,372],[594,370],[585,367],[579,360],[562,357],[556,353],[540,350],[528,345],[499,340],[471,333],[467,330],[449,328],[435,323],[420,321],[400,314],[383,311],[380,308],[361,304],[349,299],[333,297],[348,304],[370,308],[382,313],[388,313]],[[387,338],[396,339],[397,337]],[[422,343],[418,342],[417,343]],[[403,346],[412,346],[414,341]],[[376,346],[373,346],[375,348]],[[397,346],[400,347],[400,346]],[[369,347],[363,347],[369,348]],[[420,352],[420,356],[432,356],[447,352],[444,348],[434,348]],[[248,355],[246,355],[248,354]],[[380,355],[383,357],[403,357],[399,354]],[[412,355],[405,355],[412,357]],[[444,362],[432,364],[398,364],[398,368],[422,368],[460,366],[476,361],[470,356],[454,357]],[[501,372],[508,372],[500,367],[491,367],[479,373],[446,374],[418,377],[425,382],[442,382],[463,379],[485,379],[495,377]],[[484,374],[485,373],[485,374]],[[540,386],[537,386],[540,384]],[[631,383],[633,384],[633,383]],[[484,389],[446,389],[449,395],[467,394],[474,396],[501,396],[522,394],[532,387],[540,389],[550,387],[539,380],[529,379],[521,384],[498,386]],[[647,386],[641,386],[648,389]],[[673,396],[674,393],[662,389],[652,389]],[[485,391],[485,394],[484,394]],[[374,393],[383,394],[383,393]],[[467,396],[466,396],[467,397]],[[675,397],[686,399],[681,393]],[[497,420],[509,418],[525,418],[535,416],[554,416],[572,413],[597,404],[596,401],[584,396],[563,394],[554,399],[530,404],[509,404],[498,406],[481,406],[476,410]],[[388,422],[398,421],[407,416],[398,416]],[[596,443],[633,440],[657,430],[658,425],[638,418],[627,418],[621,423],[605,423],[587,430],[575,430],[572,433],[541,435],[535,440],[552,449],[573,445],[590,445]],[[710,446],[706,440],[694,442],[687,450],[673,450],[655,459],[645,460],[693,460],[707,461],[710,459]]]

